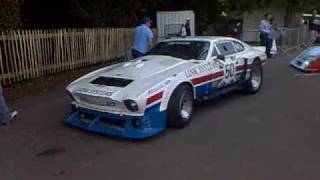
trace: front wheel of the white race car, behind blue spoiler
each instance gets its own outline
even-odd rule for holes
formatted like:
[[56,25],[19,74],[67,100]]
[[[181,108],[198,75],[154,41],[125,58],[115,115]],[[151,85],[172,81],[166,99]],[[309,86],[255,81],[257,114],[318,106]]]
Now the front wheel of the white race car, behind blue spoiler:
[[[188,112],[189,116],[183,116],[182,114],[182,106],[185,104],[183,101],[190,100],[190,112]],[[182,84],[176,88],[176,90],[173,92],[169,104],[168,104],[168,126],[173,128],[182,129],[186,127],[192,117],[193,113],[193,106],[194,106],[194,100],[193,100],[193,91],[190,86],[187,84]],[[187,107],[189,108],[189,104],[187,104]],[[184,111],[186,112],[186,111]]]

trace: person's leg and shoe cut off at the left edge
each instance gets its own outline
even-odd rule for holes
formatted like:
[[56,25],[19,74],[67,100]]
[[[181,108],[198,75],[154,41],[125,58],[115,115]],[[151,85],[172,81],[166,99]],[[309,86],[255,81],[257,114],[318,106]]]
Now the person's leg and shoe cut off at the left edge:
[[13,111],[12,113],[9,112],[8,106],[5,102],[3,96],[3,89],[0,85],[0,122],[2,125],[8,126],[12,119],[17,116],[18,112]]

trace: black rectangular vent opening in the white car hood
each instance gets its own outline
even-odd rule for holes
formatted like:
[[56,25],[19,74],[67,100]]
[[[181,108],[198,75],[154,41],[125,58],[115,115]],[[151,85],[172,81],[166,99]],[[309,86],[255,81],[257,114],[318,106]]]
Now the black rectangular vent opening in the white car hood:
[[113,87],[126,87],[133,80],[122,79],[122,78],[111,78],[100,76],[97,79],[91,81],[91,84],[100,85],[100,86],[113,86]]

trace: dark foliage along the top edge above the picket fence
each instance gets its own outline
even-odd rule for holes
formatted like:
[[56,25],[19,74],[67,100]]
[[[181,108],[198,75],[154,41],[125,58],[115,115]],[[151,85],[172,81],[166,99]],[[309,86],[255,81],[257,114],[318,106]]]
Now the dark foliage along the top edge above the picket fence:
[[155,20],[160,10],[194,10],[202,26],[223,22],[222,12],[236,18],[274,7],[290,21],[295,12],[320,8],[320,0],[0,0],[0,28],[132,27],[144,15]]

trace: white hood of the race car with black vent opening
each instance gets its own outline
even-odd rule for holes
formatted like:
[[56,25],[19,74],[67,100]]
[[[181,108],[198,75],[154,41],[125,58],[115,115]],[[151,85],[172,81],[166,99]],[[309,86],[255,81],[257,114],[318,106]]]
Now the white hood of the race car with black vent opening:
[[76,80],[67,89],[71,93],[95,94],[119,101],[137,98],[154,85],[194,65],[193,60],[186,61],[169,56],[144,56],[99,69]]

